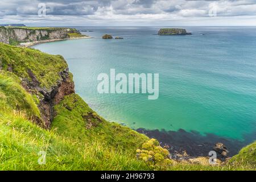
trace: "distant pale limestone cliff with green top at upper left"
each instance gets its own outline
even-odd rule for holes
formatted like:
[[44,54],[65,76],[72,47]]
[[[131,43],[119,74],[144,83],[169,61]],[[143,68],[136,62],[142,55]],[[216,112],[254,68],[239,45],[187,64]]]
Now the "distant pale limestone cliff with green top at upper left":
[[67,39],[69,33],[80,34],[75,28],[20,28],[0,27],[0,42],[35,42],[40,40]]

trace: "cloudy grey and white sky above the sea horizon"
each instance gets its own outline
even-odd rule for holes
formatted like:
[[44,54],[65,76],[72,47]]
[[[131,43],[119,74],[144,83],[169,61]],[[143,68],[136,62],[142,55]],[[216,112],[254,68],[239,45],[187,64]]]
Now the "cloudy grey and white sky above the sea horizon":
[[1,0],[0,24],[256,26],[256,0]]

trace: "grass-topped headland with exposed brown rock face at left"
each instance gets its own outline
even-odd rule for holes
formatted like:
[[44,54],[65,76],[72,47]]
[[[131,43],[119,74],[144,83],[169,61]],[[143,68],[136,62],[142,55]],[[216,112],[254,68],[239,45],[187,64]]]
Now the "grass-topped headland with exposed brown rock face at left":
[[13,72],[20,78],[23,88],[38,98],[41,118],[36,122],[48,129],[53,119],[53,106],[75,92],[67,63],[62,56],[32,49],[1,45],[0,52],[0,68]]

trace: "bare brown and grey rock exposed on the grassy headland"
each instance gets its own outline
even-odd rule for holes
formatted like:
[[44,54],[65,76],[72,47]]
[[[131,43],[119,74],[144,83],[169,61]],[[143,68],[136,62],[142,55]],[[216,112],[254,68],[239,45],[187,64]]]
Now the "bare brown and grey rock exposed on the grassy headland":
[[[23,78],[22,85],[26,90],[28,90],[28,92],[37,92],[41,95],[38,108],[43,119],[42,127],[49,129],[51,127],[52,119],[55,116],[53,107],[56,104],[59,104],[59,102],[63,100],[64,96],[75,93],[74,82],[69,75],[70,73],[68,68],[59,73],[61,79],[58,80],[57,84],[52,86],[50,89],[40,87],[40,82],[30,69],[28,69],[27,73],[31,80]],[[42,125],[42,123],[38,123],[38,125]]]

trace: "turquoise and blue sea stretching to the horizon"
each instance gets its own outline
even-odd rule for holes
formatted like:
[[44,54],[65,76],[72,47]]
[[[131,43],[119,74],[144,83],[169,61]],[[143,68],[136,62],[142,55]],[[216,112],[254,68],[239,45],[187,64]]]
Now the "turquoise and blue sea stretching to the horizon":
[[[160,27],[76,27],[92,39],[34,46],[63,55],[76,92],[108,121],[138,129],[183,129],[256,139],[256,27],[185,27],[193,35],[158,36]],[[101,36],[122,36],[104,40]],[[98,94],[97,76],[159,73],[159,98]]]

